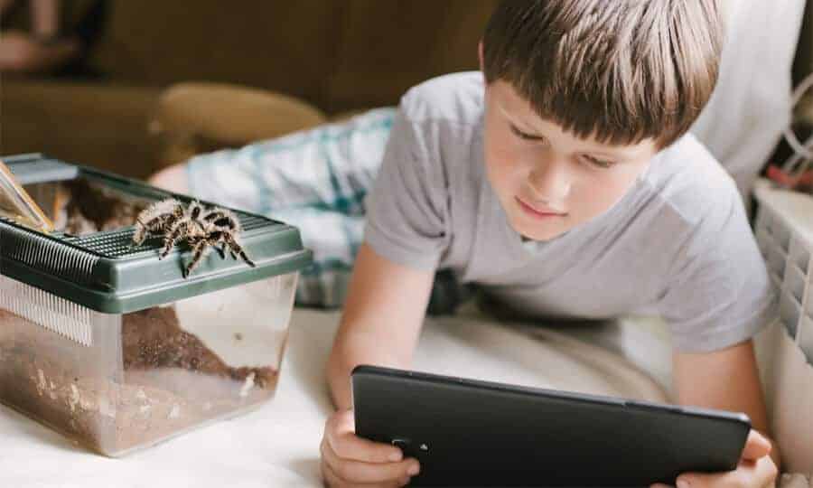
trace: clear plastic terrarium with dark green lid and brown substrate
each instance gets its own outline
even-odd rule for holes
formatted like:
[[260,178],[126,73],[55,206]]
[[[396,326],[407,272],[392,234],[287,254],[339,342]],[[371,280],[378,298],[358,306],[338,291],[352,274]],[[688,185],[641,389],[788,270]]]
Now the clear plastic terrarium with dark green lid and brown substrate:
[[6,159],[55,230],[0,218],[0,401],[123,455],[272,399],[298,271],[298,230],[235,211],[255,263],[132,245],[143,183],[37,156]]

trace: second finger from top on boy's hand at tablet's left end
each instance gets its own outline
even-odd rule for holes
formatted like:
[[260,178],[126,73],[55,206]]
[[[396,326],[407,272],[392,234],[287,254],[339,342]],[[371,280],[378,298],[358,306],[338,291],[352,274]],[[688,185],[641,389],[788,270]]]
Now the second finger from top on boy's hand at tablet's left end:
[[388,483],[393,485],[400,484],[401,480],[417,474],[417,471],[410,471],[410,468],[413,470],[419,468],[417,460],[412,458],[405,459],[400,463],[386,464],[362,463],[360,461],[341,459],[336,453],[332,452],[331,447],[325,442],[322,442],[322,464],[329,467],[333,474],[346,483]]

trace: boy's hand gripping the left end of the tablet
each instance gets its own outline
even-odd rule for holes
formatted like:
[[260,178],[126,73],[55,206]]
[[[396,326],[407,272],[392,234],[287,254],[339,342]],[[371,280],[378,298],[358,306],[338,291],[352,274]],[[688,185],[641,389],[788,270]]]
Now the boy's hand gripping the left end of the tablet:
[[416,459],[402,459],[397,447],[361,438],[355,432],[352,410],[337,411],[325,422],[320,450],[322,479],[328,486],[400,487],[418,473]]

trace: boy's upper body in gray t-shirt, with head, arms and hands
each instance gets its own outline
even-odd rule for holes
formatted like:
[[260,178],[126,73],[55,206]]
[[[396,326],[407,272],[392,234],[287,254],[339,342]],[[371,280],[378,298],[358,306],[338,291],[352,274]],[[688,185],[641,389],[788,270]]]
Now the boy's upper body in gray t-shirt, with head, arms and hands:
[[326,483],[400,486],[419,472],[354,435],[350,371],[409,368],[439,268],[525,316],[661,314],[677,401],[746,412],[755,428],[736,471],[677,485],[774,482],[752,348],[773,314],[770,280],[734,182],[687,135],[715,86],[719,8],[509,0],[479,46],[482,73],[401,100],[327,366]]

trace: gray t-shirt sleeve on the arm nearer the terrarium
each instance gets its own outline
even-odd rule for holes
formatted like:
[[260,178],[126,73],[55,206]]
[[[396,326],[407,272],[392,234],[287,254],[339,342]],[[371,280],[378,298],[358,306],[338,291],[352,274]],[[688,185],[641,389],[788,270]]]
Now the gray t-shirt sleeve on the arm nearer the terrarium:
[[427,132],[398,110],[366,198],[365,241],[384,258],[416,269],[435,269],[449,237],[447,184]]

